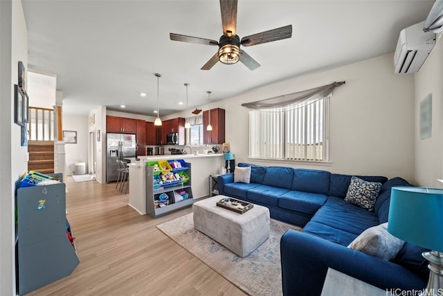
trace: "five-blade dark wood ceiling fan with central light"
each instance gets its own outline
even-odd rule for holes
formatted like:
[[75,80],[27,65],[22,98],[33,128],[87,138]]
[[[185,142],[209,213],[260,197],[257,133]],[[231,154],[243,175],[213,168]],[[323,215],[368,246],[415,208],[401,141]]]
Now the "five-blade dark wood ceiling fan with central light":
[[242,62],[251,71],[260,67],[255,59],[240,49],[242,46],[253,46],[280,39],[291,38],[292,25],[276,28],[273,30],[264,31],[243,37],[240,37],[235,32],[237,26],[237,0],[220,0],[221,9],[221,23],[223,25],[223,35],[219,41],[204,39],[199,37],[192,37],[186,35],[179,35],[170,33],[170,39],[174,41],[182,41],[189,43],[205,44],[219,46],[219,50],[209,61],[201,67],[201,70],[209,70],[218,61],[223,64],[235,64],[238,61]]

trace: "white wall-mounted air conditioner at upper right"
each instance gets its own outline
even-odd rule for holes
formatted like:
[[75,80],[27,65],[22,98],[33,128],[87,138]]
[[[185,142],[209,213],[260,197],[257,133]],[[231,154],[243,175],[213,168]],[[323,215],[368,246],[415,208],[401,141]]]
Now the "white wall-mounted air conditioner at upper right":
[[395,73],[418,72],[435,44],[435,34],[423,31],[423,23],[404,28],[394,54]]

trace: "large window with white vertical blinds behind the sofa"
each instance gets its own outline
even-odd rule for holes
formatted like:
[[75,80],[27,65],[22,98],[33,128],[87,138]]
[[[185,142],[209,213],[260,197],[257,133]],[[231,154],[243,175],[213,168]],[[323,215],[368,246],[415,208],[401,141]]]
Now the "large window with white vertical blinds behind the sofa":
[[249,112],[249,157],[328,161],[329,97],[295,109]]

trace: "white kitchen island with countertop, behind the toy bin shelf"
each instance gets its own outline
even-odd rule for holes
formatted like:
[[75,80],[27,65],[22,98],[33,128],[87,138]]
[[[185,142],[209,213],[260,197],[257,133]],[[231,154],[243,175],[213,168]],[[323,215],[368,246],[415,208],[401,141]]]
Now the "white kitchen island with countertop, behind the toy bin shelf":
[[[139,156],[141,161],[129,163],[129,206],[139,214],[147,213],[147,201],[152,202],[152,196],[146,194],[147,180],[146,163],[148,161],[183,159],[190,163],[192,172],[190,178],[192,183],[192,196],[194,199],[209,196],[209,176],[218,174],[219,169],[224,167],[223,154],[179,154],[159,156]],[[148,199],[149,198],[149,199]]]

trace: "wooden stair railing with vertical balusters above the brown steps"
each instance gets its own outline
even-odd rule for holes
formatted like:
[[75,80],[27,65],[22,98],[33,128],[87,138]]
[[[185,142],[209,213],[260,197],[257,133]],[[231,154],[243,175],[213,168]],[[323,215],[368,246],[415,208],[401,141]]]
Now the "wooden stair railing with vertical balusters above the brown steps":
[[54,110],[29,107],[28,140],[54,140]]

